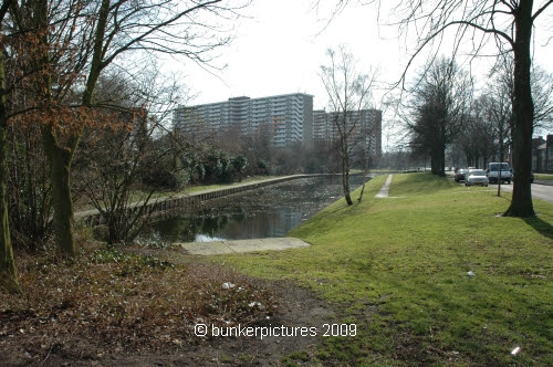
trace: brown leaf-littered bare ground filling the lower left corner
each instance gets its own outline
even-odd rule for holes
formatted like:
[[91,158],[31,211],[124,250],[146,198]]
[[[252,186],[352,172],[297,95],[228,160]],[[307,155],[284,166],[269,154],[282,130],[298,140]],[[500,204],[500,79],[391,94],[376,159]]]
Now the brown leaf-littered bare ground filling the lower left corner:
[[0,293],[0,366],[281,366],[298,353],[309,366],[319,337],[198,337],[194,326],[319,326],[332,312],[310,291],[135,252],[21,260],[23,294]]

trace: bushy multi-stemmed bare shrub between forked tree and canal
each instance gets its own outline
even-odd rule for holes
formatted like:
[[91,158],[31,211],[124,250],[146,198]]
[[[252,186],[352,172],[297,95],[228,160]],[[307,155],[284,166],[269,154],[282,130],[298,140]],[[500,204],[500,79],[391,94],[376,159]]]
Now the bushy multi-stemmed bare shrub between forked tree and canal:
[[[152,196],[165,189],[160,176],[178,166],[170,147],[154,145],[153,135],[171,114],[171,101],[180,90],[160,80],[155,66],[150,69],[133,82],[121,74],[98,81],[103,113],[112,123],[88,128],[75,158],[81,168],[77,186],[104,219],[108,244],[136,238],[152,214]],[[156,174],[158,181],[147,185]]]

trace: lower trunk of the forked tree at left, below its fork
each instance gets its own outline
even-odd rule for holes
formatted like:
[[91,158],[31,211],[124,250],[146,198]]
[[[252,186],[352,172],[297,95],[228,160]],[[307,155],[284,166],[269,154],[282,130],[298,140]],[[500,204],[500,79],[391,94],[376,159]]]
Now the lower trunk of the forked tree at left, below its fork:
[[42,128],[44,150],[50,162],[50,179],[52,180],[53,230],[59,254],[63,258],[71,258],[75,253],[73,200],[71,197],[73,150],[60,147],[53,134],[52,126],[45,125]]

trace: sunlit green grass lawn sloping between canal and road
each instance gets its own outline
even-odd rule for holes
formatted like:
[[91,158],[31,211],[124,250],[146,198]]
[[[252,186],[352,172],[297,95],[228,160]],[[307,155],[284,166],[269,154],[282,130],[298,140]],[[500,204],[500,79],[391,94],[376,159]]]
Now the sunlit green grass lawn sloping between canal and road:
[[356,324],[322,338],[321,365],[553,366],[553,206],[503,218],[508,197],[429,174],[394,175],[375,199],[385,179],[289,233],[310,248],[217,260],[294,280],[331,303],[328,323]]

